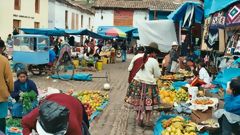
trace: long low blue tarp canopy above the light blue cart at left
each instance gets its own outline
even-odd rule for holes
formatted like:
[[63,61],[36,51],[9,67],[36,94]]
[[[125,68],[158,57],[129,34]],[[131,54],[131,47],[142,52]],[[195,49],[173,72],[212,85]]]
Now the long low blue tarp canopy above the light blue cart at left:
[[100,35],[89,31],[88,29],[80,29],[80,30],[68,30],[68,29],[35,29],[35,28],[20,28],[26,34],[38,34],[38,35],[46,35],[46,36],[64,36],[64,35],[88,35],[93,38],[98,39],[111,39],[110,36]]

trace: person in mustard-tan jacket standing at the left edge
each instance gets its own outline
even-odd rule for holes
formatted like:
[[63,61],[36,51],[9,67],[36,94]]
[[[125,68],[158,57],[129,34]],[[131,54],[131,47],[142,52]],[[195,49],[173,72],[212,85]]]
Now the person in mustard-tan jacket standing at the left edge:
[[0,40],[0,130],[5,132],[6,116],[8,112],[8,97],[13,91],[13,77],[9,62],[6,57],[2,55],[5,44]]

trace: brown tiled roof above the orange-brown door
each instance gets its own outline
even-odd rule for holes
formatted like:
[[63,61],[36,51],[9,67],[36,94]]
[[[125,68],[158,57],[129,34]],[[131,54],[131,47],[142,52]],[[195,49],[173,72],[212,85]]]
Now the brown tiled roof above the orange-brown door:
[[[94,8],[126,8],[126,9],[151,9],[161,11],[173,11],[181,3],[175,3],[176,0],[96,0]],[[180,0],[188,1],[188,0]],[[192,0],[198,1],[198,0]]]

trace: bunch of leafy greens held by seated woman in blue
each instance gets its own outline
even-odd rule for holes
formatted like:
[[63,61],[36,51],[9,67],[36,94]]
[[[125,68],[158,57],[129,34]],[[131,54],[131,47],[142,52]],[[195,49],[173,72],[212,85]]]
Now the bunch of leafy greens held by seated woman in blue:
[[23,112],[27,113],[31,111],[32,108],[32,102],[37,99],[37,94],[33,90],[30,92],[23,92],[20,94],[20,101],[23,104]]

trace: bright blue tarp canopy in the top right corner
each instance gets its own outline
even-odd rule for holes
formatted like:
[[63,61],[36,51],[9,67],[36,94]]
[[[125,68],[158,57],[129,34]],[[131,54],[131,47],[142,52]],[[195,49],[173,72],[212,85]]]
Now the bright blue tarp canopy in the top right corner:
[[209,15],[228,7],[235,2],[239,2],[239,0],[205,0],[204,16],[208,17]]

